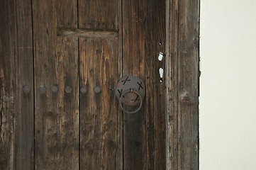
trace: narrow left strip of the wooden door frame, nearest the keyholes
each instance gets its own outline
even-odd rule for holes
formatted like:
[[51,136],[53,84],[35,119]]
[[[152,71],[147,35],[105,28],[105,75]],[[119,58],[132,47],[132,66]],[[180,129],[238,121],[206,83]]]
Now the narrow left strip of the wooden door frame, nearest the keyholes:
[[167,30],[167,36],[169,36],[169,48],[167,57],[169,57],[169,120],[167,132],[168,132],[168,147],[167,152],[169,157],[167,158],[167,166],[169,169],[178,169],[179,165],[179,97],[178,97],[178,55],[179,55],[179,0],[169,1],[169,30]]

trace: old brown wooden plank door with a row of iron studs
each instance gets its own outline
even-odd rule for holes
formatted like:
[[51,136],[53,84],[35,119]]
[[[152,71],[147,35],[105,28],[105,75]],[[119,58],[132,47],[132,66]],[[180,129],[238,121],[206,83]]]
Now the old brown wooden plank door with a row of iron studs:
[[[1,62],[18,68],[18,97],[5,100],[18,103],[18,135],[14,156],[6,154],[0,167],[165,169],[165,79],[159,74],[165,60],[157,60],[165,53],[165,0],[10,0],[3,6],[11,18],[1,18],[10,19],[1,27],[2,52],[17,54]],[[145,82],[138,113],[118,106],[114,89],[124,75]],[[14,153],[13,140],[3,139],[2,154]]]

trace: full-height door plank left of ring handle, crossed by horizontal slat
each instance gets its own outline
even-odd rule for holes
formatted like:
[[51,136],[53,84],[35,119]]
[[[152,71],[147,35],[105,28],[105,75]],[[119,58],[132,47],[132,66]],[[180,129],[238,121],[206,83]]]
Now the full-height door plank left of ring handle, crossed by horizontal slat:
[[[79,28],[118,30],[121,1],[78,1]],[[81,169],[123,169],[123,115],[114,89],[121,78],[122,33],[118,38],[80,38]],[[95,94],[94,87],[101,93]]]

